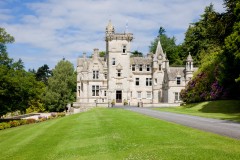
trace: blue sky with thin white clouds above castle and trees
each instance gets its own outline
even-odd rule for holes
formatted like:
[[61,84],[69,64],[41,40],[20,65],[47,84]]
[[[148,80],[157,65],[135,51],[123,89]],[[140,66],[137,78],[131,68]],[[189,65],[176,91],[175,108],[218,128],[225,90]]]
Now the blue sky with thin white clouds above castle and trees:
[[0,0],[0,27],[15,37],[8,45],[11,58],[21,58],[26,69],[54,68],[62,58],[76,65],[83,52],[105,50],[110,19],[116,32],[124,32],[128,23],[132,51],[148,53],[160,26],[181,43],[210,3],[224,12],[221,0]]

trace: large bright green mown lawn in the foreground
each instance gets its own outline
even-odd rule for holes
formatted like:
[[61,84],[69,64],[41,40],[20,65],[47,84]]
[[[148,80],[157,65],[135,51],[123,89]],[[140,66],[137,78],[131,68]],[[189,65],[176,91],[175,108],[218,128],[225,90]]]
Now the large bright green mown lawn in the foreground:
[[0,131],[0,159],[240,159],[240,141],[116,108]]

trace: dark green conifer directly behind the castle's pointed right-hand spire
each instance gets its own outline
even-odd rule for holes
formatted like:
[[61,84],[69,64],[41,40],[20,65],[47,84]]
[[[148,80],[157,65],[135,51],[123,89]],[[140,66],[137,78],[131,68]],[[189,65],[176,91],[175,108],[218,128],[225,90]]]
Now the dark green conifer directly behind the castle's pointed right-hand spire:
[[160,27],[158,37],[151,42],[151,45],[149,46],[150,52],[155,54],[159,39],[164,52],[167,54],[169,63],[172,65],[181,65],[183,62],[179,57],[179,47],[176,45],[176,39],[175,37],[168,37],[165,34],[165,29],[163,27]]

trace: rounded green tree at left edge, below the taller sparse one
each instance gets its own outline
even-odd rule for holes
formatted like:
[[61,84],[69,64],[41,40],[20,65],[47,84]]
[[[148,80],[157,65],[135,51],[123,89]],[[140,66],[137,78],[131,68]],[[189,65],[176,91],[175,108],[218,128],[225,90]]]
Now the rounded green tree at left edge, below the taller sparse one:
[[20,110],[25,112],[30,101],[39,99],[44,85],[24,70],[0,67],[0,115]]

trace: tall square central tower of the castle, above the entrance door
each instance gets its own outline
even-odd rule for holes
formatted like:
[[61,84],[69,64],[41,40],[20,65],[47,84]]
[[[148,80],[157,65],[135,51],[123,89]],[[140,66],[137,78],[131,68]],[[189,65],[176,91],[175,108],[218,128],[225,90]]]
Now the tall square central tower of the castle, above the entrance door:
[[108,100],[117,104],[130,96],[130,44],[132,33],[115,33],[109,21],[106,27],[106,58],[108,63]]

